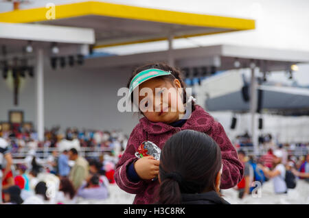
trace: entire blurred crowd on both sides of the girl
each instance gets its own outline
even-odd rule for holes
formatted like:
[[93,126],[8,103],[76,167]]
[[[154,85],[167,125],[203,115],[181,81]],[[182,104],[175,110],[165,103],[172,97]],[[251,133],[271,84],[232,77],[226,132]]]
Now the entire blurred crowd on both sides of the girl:
[[[262,136],[260,136],[262,137]],[[234,143],[244,165],[244,178],[234,188],[243,199],[255,193],[258,186],[273,181],[274,193],[284,195],[297,186],[298,180],[309,182],[308,145],[273,142],[271,134],[259,139],[264,153],[252,156],[244,134]],[[45,131],[45,141],[37,140],[36,132],[21,130],[0,132],[0,178],[3,204],[78,204],[81,199],[108,199],[109,187],[115,183],[115,166],[122,156],[128,136],[121,131],[95,131],[60,128]],[[294,147],[293,147],[294,146]],[[82,148],[100,149],[98,156],[87,156]],[[291,154],[292,148],[303,147],[307,153]],[[49,148],[47,156],[39,156],[39,148]],[[102,152],[102,148],[105,148]],[[14,158],[22,149],[25,157]]]

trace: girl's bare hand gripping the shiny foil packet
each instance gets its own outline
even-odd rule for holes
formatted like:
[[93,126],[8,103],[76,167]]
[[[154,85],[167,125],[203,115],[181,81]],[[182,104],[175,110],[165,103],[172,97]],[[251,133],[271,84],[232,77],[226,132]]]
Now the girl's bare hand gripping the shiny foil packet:
[[153,156],[140,158],[134,163],[135,171],[142,180],[151,180],[159,175],[159,160]]

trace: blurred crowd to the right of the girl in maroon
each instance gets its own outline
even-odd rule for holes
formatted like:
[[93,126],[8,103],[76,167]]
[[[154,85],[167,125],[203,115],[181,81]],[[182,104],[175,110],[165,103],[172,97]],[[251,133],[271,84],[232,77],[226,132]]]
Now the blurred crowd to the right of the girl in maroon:
[[235,187],[240,199],[256,195],[257,188],[268,181],[273,182],[276,195],[286,195],[288,190],[295,189],[299,180],[305,180],[309,186],[309,152],[304,156],[290,155],[279,145],[262,156],[252,156],[240,147],[238,156],[244,165],[244,177]]

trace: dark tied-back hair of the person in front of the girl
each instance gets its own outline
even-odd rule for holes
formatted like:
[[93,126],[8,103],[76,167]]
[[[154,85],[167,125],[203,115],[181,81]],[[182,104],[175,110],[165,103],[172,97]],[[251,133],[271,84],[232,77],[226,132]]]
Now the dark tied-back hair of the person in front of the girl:
[[159,165],[159,204],[181,204],[182,193],[216,191],[220,147],[207,134],[183,130],[166,141]]

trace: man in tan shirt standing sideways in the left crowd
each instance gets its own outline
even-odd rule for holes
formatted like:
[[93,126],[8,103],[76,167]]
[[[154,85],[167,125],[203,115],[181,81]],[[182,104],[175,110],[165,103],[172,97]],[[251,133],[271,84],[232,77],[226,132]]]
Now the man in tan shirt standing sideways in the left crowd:
[[74,189],[78,190],[88,176],[89,164],[87,160],[78,155],[78,151],[75,148],[69,150],[69,159],[75,161],[69,173],[69,179],[73,183]]

